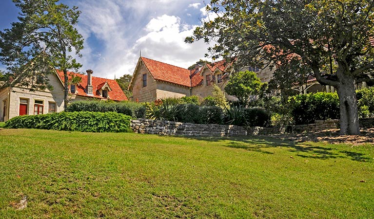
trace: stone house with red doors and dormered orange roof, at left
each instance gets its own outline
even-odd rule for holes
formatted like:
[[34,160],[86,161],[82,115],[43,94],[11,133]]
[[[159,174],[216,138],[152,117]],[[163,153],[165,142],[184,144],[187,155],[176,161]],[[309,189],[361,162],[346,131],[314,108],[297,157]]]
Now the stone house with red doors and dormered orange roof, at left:
[[[81,78],[79,83],[69,84],[70,101],[92,99],[127,100],[126,95],[123,93],[116,80],[94,77],[92,73],[92,70],[87,70],[87,75],[72,72],[68,73],[69,80],[72,76],[79,76]],[[50,85],[53,86],[53,90],[30,91],[30,89],[17,86],[1,90],[0,121],[7,121],[19,115],[36,115],[63,111],[63,72],[56,70],[55,73],[48,75],[48,79]]]

